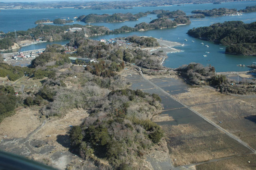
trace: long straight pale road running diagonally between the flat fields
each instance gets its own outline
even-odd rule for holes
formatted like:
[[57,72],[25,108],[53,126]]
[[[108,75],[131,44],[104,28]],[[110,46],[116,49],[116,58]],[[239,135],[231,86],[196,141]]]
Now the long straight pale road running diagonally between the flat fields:
[[150,84],[152,84],[152,86],[154,86],[155,88],[161,90],[164,94],[166,94],[167,96],[169,96],[170,98],[172,98],[173,100],[175,100],[176,102],[179,102],[180,104],[182,104],[185,108],[188,108],[189,110],[191,110],[192,112],[194,112],[195,114],[197,114],[198,116],[200,116],[201,118],[203,118],[204,120],[206,120],[208,123],[212,124],[213,126],[215,126],[216,128],[218,128],[220,131],[224,132],[225,134],[227,134],[230,138],[233,138],[234,140],[236,140],[237,142],[239,142],[240,144],[244,145],[246,148],[248,148],[249,150],[251,150],[254,154],[256,154],[256,150],[252,147],[250,147],[246,142],[240,140],[238,137],[234,136],[233,134],[229,133],[228,131],[226,131],[225,129],[223,129],[222,127],[218,126],[217,124],[215,124],[214,122],[212,122],[211,120],[209,120],[208,118],[202,116],[200,113],[196,112],[195,110],[193,110],[192,108],[190,108],[189,106],[186,106],[186,104],[183,104],[182,102],[180,102],[179,100],[177,100],[176,98],[174,98],[172,95],[170,95],[168,92],[164,91],[162,88],[160,88],[159,86],[157,86],[156,84],[154,84],[153,82],[151,82],[150,80],[146,79],[142,73],[142,71],[140,71],[140,75],[142,76],[142,78],[144,80],[146,80],[147,82],[149,82]]

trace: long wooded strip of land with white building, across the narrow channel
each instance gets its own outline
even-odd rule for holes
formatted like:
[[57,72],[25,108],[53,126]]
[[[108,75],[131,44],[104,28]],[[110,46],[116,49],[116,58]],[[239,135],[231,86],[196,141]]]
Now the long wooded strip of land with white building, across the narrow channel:
[[[16,31],[18,36],[18,41],[22,40],[33,40],[41,38],[45,41],[54,40],[70,40],[75,37],[90,37],[103,34],[116,34],[121,32],[133,32],[133,31],[145,31],[150,29],[162,29],[162,28],[173,28],[179,24],[190,24],[189,18],[178,17],[175,20],[170,20],[167,18],[158,18],[152,20],[150,23],[142,22],[136,24],[134,28],[128,26],[122,26],[121,28],[115,30],[109,30],[104,26],[82,26],[79,24],[64,25],[64,26],[54,26],[54,25],[44,25],[39,24],[35,28],[30,28],[27,31]],[[75,30],[70,30],[74,28]],[[80,29],[80,30],[79,30]],[[18,46],[16,42],[15,33],[9,32],[6,34],[0,34],[2,39],[0,40],[0,50],[11,49],[12,46]]]

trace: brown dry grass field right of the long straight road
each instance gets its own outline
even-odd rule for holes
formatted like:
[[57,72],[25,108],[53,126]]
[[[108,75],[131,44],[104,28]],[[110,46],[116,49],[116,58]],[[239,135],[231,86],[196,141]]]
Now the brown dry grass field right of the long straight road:
[[175,97],[256,148],[256,98],[220,94],[207,87]]

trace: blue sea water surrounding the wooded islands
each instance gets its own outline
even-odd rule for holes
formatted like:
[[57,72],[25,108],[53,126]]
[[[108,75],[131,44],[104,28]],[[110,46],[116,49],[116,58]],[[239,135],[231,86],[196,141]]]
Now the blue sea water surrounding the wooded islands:
[[[27,9],[27,10],[1,10],[0,12],[0,30],[4,32],[16,30],[27,30],[28,28],[35,27],[34,22],[40,19],[55,18],[66,18],[73,19],[74,16],[87,15],[91,13],[95,14],[113,14],[113,13],[126,13],[130,12],[136,14],[138,12],[146,12],[148,10],[164,9],[164,10],[183,10],[187,15],[190,15],[192,10],[205,10],[212,8],[236,8],[244,9],[246,6],[254,6],[256,1],[249,2],[227,2],[222,4],[186,4],[185,6],[164,6],[164,7],[136,7],[133,9],[112,9],[112,10],[74,10],[74,9]],[[148,15],[140,18],[138,21],[119,22],[119,23],[93,23],[92,25],[106,26],[110,30],[120,28],[121,26],[127,25],[133,27],[135,24],[140,22],[150,22],[155,19],[156,15]],[[74,19],[75,20],[75,19]],[[247,67],[238,67],[236,64],[249,65],[252,62],[256,62],[255,56],[234,56],[224,54],[225,46],[220,46],[212,42],[205,42],[199,39],[192,38],[186,34],[186,32],[194,27],[210,26],[217,22],[231,21],[231,20],[242,20],[245,23],[251,23],[256,21],[256,13],[247,13],[242,16],[222,16],[222,17],[206,17],[203,19],[192,19],[190,25],[178,26],[177,28],[163,29],[163,30],[149,30],[144,32],[128,32],[125,34],[111,34],[106,36],[92,37],[94,40],[100,40],[102,38],[115,38],[125,37],[130,35],[137,36],[152,36],[155,38],[163,38],[165,40],[176,41],[184,43],[185,46],[176,47],[183,50],[184,52],[168,54],[168,59],[165,61],[164,66],[177,68],[182,64],[189,64],[190,62],[198,62],[205,66],[211,64],[216,68],[216,71],[245,71],[250,70]],[[85,24],[84,22],[73,22],[72,24]],[[184,39],[188,41],[184,41]],[[194,42],[191,42],[194,40]],[[46,44],[66,44],[68,40],[46,42],[40,44],[33,44],[20,48],[18,51],[33,50],[45,48]],[[208,44],[209,48],[201,45],[204,42]],[[223,48],[223,49],[220,49]],[[206,54],[205,52],[210,52]],[[203,55],[207,55],[204,57]]]

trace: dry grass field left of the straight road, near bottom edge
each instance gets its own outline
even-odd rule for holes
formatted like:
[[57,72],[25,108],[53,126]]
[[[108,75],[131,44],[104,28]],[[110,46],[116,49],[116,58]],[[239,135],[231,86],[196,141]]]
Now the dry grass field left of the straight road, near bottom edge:
[[207,125],[200,126],[195,124],[162,126],[165,131],[170,132],[166,136],[170,158],[174,166],[194,164],[249,152],[216,128],[209,128]]

